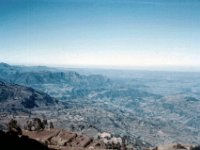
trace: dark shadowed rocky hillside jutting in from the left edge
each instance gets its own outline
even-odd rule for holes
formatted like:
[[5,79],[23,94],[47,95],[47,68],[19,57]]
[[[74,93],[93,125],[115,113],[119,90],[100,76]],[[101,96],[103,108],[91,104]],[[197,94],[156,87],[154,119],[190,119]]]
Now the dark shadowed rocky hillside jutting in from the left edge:
[[58,101],[30,87],[0,81],[0,112],[30,113],[33,109],[56,107]]

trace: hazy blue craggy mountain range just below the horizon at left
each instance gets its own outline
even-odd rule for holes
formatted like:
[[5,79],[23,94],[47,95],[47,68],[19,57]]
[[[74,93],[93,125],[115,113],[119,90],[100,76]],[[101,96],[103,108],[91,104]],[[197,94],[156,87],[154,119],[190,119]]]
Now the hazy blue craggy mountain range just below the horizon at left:
[[101,75],[85,76],[74,71],[61,71],[44,66],[11,66],[6,63],[0,63],[0,79],[23,85],[65,83],[83,88],[85,86],[99,88],[109,83],[109,79]]

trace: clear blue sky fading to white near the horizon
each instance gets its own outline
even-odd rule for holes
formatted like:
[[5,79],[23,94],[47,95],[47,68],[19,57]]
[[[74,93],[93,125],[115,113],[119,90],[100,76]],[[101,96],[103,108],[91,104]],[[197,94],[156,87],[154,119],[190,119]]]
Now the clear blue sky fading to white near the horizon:
[[200,0],[0,0],[0,61],[200,66]]

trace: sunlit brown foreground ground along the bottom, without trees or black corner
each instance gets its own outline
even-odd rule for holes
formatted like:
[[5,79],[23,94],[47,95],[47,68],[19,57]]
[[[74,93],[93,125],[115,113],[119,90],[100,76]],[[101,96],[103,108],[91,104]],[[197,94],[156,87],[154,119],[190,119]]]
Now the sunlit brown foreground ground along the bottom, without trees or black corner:
[[[31,139],[35,139],[43,144],[48,145],[51,149],[56,150],[82,150],[82,149],[121,149],[121,150],[134,150],[136,147],[128,148],[122,143],[113,142],[111,145],[107,145],[102,139],[94,140],[86,135],[78,134],[75,132],[68,132],[60,129],[50,129],[43,131],[23,131],[23,135],[28,136]],[[105,139],[104,139],[105,140]],[[189,144],[168,144],[160,145],[155,148],[141,147],[145,150],[200,150],[200,146],[194,146]]]

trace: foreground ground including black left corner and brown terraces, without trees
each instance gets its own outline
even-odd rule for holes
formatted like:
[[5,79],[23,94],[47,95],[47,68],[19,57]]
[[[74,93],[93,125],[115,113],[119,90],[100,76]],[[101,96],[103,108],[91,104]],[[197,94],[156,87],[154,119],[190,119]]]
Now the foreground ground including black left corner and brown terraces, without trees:
[[[0,131],[1,147],[6,149],[29,149],[29,150],[136,150],[123,145],[112,144],[107,147],[101,140],[94,140],[86,135],[68,132],[61,129],[49,129],[42,131],[23,130],[18,136]],[[200,150],[200,146],[187,144],[168,144],[157,147],[140,148],[141,150]]]

